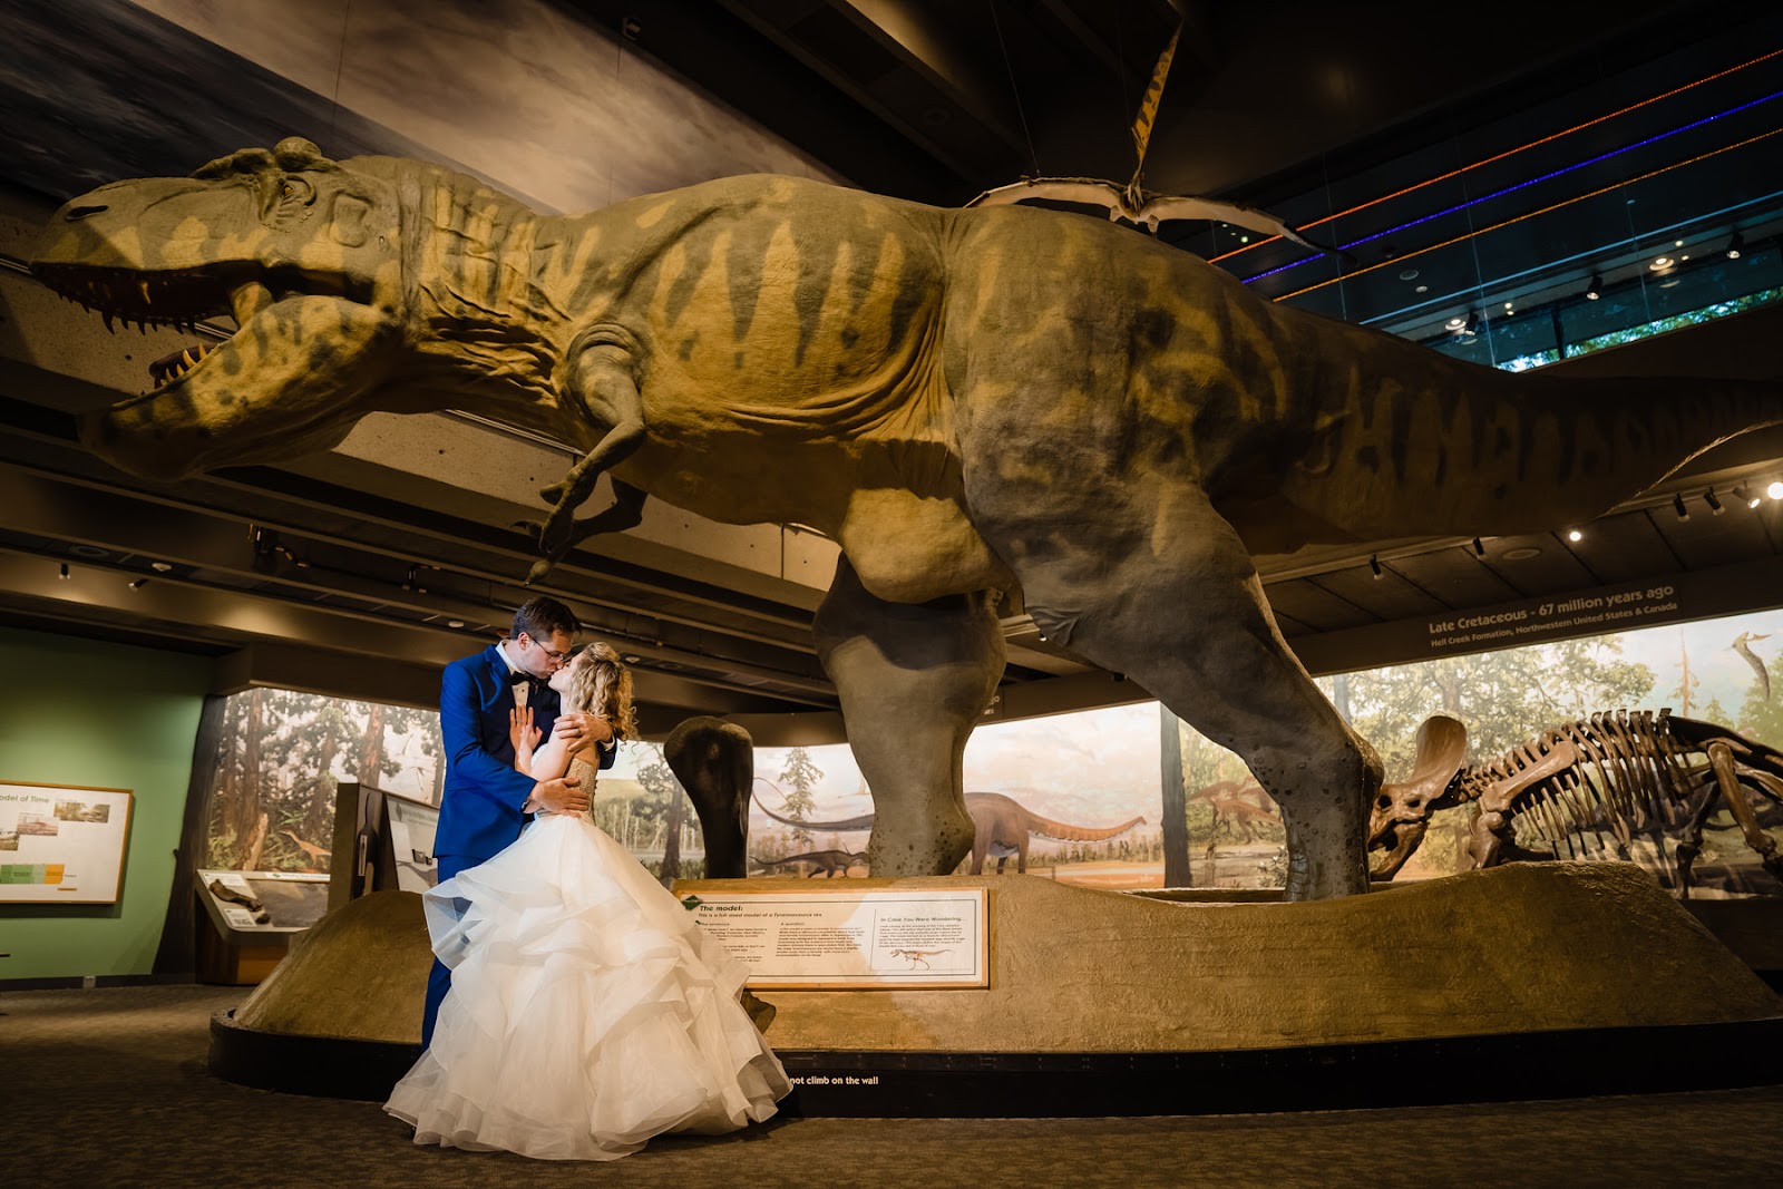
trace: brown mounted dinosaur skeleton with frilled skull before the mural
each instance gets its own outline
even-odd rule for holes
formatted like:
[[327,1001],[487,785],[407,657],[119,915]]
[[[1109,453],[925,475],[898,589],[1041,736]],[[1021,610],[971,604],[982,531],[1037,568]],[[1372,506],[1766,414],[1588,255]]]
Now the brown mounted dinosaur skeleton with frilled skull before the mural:
[[[1473,865],[1553,859],[1560,845],[1587,832],[1610,834],[1630,857],[1635,834],[1649,834],[1664,854],[1665,827],[1683,825],[1676,845],[1678,891],[1690,895],[1690,866],[1703,849],[1703,825],[1726,806],[1767,872],[1783,879],[1783,850],[1763,832],[1751,795],[1783,802],[1783,752],[1737,731],[1669,709],[1615,711],[1542,731],[1501,759],[1462,767],[1467,729],[1437,715],[1417,731],[1414,775],[1387,784],[1369,820],[1369,849],[1387,850],[1375,879],[1393,879],[1417,850],[1430,815],[1458,804],[1480,806],[1469,847]],[[1519,822],[1549,850],[1517,845]]]

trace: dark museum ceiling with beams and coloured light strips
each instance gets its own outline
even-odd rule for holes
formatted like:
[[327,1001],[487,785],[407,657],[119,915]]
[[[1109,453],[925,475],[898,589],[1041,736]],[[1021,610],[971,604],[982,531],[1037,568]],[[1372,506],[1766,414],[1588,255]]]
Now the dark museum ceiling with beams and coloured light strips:
[[[1783,285],[1783,171],[1765,141],[1779,128],[1769,100],[1783,59],[1765,55],[1783,50],[1783,18],[1747,5],[259,9],[301,7],[294,25],[225,23],[189,0],[77,0],[55,21],[29,7],[0,7],[16,46],[0,77],[14,130],[0,162],[0,622],[210,652],[228,658],[225,683],[430,702],[439,665],[526,597],[512,524],[537,515],[537,488],[572,458],[456,414],[374,417],[323,456],[175,483],[121,476],[78,444],[73,414],[139,390],[143,365],[184,339],[112,335],[52,298],[23,271],[36,228],[100,182],[187,173],[291,132],[339,157],[448,160],[556,210],[763,169],[959,205],[1023,175],[1125,182],[1127,128],[1180,11],[1145,185],[1303,225],[1343,210],[1321,242],[1355,244],[1339,262],[1243,244],[1223,225],[1163,228],[1186,251],[1236,255],[1221,267],[1257,292],[1492,362],[1728,285]],[[1569,132],[1589,152],[1541,143],[1624,111],[1644,123]],[[1528,155],[1419,189],[1507,146]],[[1500,201],[1541,217],[1469,205],[1524,185]],[[1393,214],[1357,214],[1375,200]],[[1735,230],[1744,262],[1726,260]],[[1649,275],[1674,246],[1697,264]],[[1594,280],[1603,301],[1583,296]],[[1779,323],[1760,310],[1557,365],[1774,376]],[[1426,622],[1551,595],[1633,585],[1689,590],[1696,613],[1771,604],[1783,513],[1733,492],[1772,480],[1783,446],[1754,435],[1589,526],[1357,542],[1261,558],[1261,570],[1314,670],[1412,660]],[[776,720],[815,738],[834,729],[809,713],[834,708],[809,644],[834,556],[801,526],[736,529],[651,504],[645,524],[590,542],[547,588],[637,658],[665,720],[760,715],[763,738]],[[1011,668],[995,713],[1136,695],[1041,640],[1018,601],[1004,610]]]

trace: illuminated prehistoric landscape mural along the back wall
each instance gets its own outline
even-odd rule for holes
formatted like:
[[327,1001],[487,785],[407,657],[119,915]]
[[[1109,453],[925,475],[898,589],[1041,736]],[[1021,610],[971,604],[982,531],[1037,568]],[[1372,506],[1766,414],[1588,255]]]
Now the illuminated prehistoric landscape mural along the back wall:
[[[1590,636],[1505,652],[1453,656],[1335,677],[1319,686],[1380,750],[1387,777],[1412,770],[1430,715],[1467,727],[1467,763],[1483,763],[1539,731],[1615,709],[1713,722],[1783,747],[1783,611]],[[1180,749],[1184,831],[1177,870],[1198,888],[1280,888],[1280,815],[1232,752],[1166,720],[1157,702],[979,727],[966,747],[968,809],[995,841],[984,870],[1015,872],[1025,831],[1027,873],[1093,888],[1166,884],[1164,738]],[[210,866],[326,870],[333,784],[360,779],[439,800],[439,717],[424,709],[257,690],[230,699],[210,793]],[[1783,841],[1783,811],[1754,804]],[[749,815],[751,875],[868,875],[874,802],[847,745],[758,747]],[[59,815],[64,820],[78,820]],[[1471,806],[1439,811],[1398,879],[1469,866]],[[665,879],[704,875],[699,822],[656,743],[628,743],[601,775],[596,822]],[[840,829],[836,824],[856,824]],[[995,827],[995,829],[993,829]],[[1671,882],[1678,824],[1635,832],[1628,854]],[[1521,845],[1549,847],[1549,841]],[[1605,829],[1560,840],[1560,857],[1614,859]],[[972,868],[974,857],[961,863]],[[1715,813],[1692,895],[1783,895]]]

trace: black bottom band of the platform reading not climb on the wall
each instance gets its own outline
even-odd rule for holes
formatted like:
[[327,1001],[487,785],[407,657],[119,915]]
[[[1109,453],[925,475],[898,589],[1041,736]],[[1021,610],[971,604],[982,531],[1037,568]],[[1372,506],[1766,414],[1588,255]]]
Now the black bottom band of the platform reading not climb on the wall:
[[[1783,1016],[1200,1054],[777,1052],[793,1080],[788,1118],[1353,1111],[1774,1086]],[[419,1055],[210,1018],[210,1071],[259,1089],[383,1102]]]

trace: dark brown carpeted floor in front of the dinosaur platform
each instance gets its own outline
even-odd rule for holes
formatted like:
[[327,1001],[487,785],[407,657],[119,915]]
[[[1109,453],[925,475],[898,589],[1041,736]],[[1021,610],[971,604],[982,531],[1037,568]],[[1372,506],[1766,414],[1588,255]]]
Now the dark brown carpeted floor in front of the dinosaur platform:
[[[1783,1084],[1560,1102],[1120,1119],[776,1119],[608,1164],[417,1148],[376,1103],[205,1070],[239,988],[0,993],[0,1184],[1649,1185],[1783,1184]],[[1779,1071],[1783,1082],[1783,1071]]]

